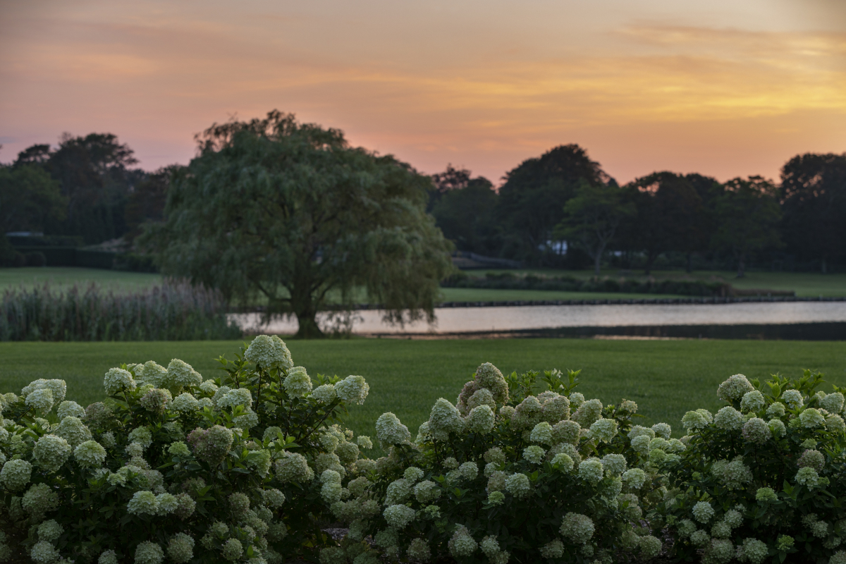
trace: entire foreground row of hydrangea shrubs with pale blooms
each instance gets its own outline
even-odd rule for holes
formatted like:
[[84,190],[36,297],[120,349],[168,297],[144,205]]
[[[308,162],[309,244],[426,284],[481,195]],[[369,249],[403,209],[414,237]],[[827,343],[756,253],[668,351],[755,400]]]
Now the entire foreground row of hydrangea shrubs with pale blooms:
[[0,561],[846,562],[843,393],[817,373],[734,375],[678,440],[578,372],[486,363],[414,439],[382,414],[371,459],[342,425],[362,376],[312,379],[278,337],[220,363],[124,364],[87,408],[61,380],[0,396]]

